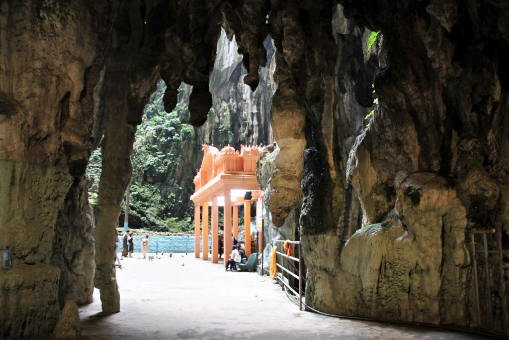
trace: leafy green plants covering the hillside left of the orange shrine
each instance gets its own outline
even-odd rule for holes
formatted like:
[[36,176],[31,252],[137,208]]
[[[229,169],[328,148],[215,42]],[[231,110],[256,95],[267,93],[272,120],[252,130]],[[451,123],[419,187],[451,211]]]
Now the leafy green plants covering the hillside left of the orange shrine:
[[[196,134],[194,127],[181,120],[188,115],[185,102],[179,102],[172,112],[164,111],[165,88],[163,82],[158,84],[136,131],[131,156],[129,224],[153,231],[182,232],[194,227],[191,220],[194,211],[188,204],[189,193],[194,189],[193,164],[188,163],[194,159],[186,159],[185,155],[190,154],[191,158],[194,155]],[[87,168],[91,181],[89,201],[93,206],[97,205],[100,166],[101,147],[92,153]]]

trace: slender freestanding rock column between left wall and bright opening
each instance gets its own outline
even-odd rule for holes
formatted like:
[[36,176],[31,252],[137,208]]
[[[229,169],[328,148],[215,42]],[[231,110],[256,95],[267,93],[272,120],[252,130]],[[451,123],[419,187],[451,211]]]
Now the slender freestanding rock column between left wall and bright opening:
[[[127,76],[122,70],[107,74],[108,94],[106,128],[102,142],[102,172],[99,181],[96,235],[95,286],[101,293],[105,313],[120,311],[120,296],[115,274],[116,226],[120,203],[131,179],[132,153],[136,128],[127,123]],[[114,114],[116,113],[116,114]]]

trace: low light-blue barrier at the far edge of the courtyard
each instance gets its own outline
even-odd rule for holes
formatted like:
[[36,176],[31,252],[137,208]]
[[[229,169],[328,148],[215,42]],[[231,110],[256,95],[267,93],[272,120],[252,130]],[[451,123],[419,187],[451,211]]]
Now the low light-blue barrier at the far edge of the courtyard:
[[[134,252],[142,252],[143,237],[134,237]],[[212,237],[209,236],[209,251],[212,244]],[[203,239],[200,236],[200,252],[203,249]],[[119,252],[122,251],[122,244],[119,246]],[[149,236],[149,253],[192,253],[194,252],[194,235],[190,236]]]

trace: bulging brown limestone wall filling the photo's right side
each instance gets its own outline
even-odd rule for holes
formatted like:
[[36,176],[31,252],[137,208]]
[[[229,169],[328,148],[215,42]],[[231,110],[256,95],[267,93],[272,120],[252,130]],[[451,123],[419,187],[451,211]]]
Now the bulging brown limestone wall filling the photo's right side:
[[357,301],[339,309],[507,332],[500,256],[483,269],[492,289],[480,284],[477,313],[471,249],[481,247],[470,243],[475,229],[493,229],[490,249],[497,239],[507,247],[507,7],[380,2],[370,12],[343,3],[345,16],[382,37],[378,105],[347,169],[364,228],[343,250],[338,276],[350,284],[336,301],[352,291]]

